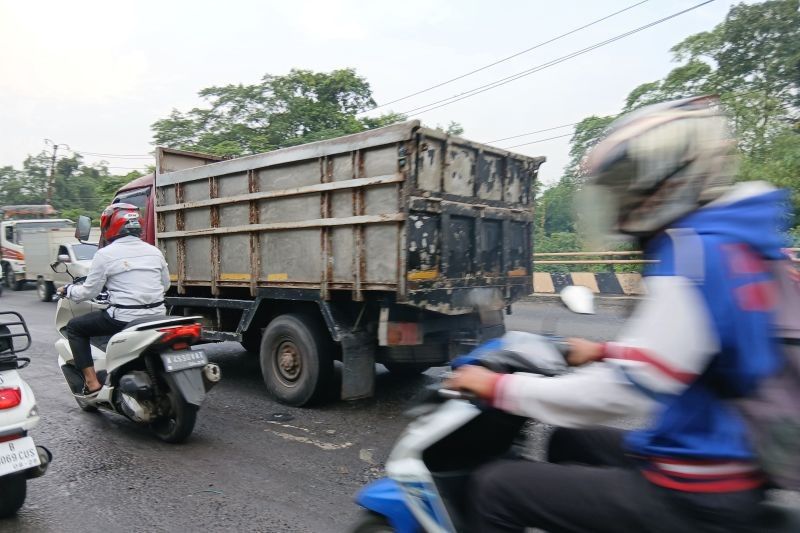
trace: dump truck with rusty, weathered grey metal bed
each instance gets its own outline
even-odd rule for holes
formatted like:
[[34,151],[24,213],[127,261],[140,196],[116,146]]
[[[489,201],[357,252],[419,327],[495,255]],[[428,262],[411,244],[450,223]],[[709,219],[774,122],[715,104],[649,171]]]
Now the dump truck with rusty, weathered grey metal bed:
[[202,316],[206,340],[257,353],[267,389],[306,405],[505,331],[531,293],[544,160],[408,121],[224,161],[157,148],[114,201],[164,252],[169,313]]

